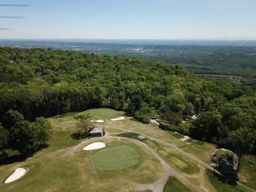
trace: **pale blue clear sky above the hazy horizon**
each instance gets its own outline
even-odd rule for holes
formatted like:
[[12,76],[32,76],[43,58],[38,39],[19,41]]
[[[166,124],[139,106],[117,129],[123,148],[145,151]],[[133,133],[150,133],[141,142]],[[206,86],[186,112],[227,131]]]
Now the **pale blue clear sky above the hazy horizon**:
[[0,0],[0,38],[256,39],[256,0]]

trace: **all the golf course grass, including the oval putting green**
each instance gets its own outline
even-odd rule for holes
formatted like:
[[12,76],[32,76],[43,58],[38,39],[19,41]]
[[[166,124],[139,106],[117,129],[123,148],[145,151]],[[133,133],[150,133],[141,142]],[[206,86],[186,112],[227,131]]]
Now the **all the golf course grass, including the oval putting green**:
[[[66,115],[49,118],[53,126],[49,148],[38,151],[36,155],[24,161],[0,166],[0,191],[136,192],[134,190],[135,184],[150,185],[156,183],[164,173],[164,167],[160,164],[160,161],[142,143],[136,141],[137,137],[140,136],[136,131],[151,137],[160,137],[161,140],[168,143],[175,143],[201,159],[207,157],[207,153],[215,148],[210,143],[201,143],[194,140],[190,141],[192,144],[189,145],[182,143],[176,137],[173,137],[169,131],[161,131],[157,125],[145,125],[131,120],[127,116],[125,116],[124,121],[110,121],[112,117],[124,115],[122,112],[111,109],[90,109],[84,113],[89,112],[94,114],[92,115],[93,119],[105,119],[102,126],[110,132],[109,137],[96,137],[84,141],[73,139],[71,135],[76,131],[76,121],[73,116],[77,113],[67,113]],[[119,128],[121,129],[119,130]],[[116,136],[119,138],[116,138]],[[70,154],[69,151],[76,148],[79,143],[83,144],[74,153]],[[91,143],[105,143],[106,148],[84,151],[83,148]],[[206,192],[247,191],[240,186],[223,183],[211,172],[206,173],[204,166],[179,153],[174,148],[169,148],[150,139],[144,139],[143,143],[152,148],[177,172],[182,173]],[[202,150],[203,153],[199,148],[204,149]],[[207,153],[204,153],[205,151]],[[247,184],[254,181],[253,158],[254,156],[241,160],[239,173],[241,177],[250,176],[247,177],[247,181],[249,181]],[[29,172],[14,183],[4,184],[6,178],[18,167],[24,167]],[[248,175],[249,173],[250,175]],[[182,180],[171,177],[166,183],[165,190],[171,192],[189,191],[191,189],[188,190],[183,185]]]

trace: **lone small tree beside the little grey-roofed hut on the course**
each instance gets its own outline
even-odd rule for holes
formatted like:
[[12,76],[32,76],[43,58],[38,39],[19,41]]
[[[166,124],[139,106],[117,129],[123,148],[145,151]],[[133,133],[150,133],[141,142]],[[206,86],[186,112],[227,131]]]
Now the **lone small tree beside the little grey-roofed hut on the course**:
[[89,113],[79,113],[78,115],[74,116],[74,119],[78,119],[79,122],[77,123],[77,128],[79,135],[81,137],[88,136],[90,131],[93,129],[94,124],[91,122],[91,117]]

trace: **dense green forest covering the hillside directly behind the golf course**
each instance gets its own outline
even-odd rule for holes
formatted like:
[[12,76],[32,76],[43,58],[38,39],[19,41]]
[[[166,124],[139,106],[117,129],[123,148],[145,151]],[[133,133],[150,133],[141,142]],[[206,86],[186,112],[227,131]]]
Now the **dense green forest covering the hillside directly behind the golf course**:
[[[2,152],[23,144],[32,153],[47,145],[50,125],[39,117],[89,108],[124,110],[144,123],[157,117],[172,131],[239,154],[256,151],[255,87],[216,83],[180,66],[79,51],[1,48],[0,81]],[[182,122],[193,114],[198,119]]]

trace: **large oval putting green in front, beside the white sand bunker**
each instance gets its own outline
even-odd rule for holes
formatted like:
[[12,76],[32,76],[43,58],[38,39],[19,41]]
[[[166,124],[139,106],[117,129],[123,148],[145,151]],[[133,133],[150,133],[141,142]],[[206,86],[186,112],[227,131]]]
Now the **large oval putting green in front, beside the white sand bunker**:
[[104,148],[93,156],[96,168],[104,171],[136,166],[140,158],[137,149],[126,144]]

